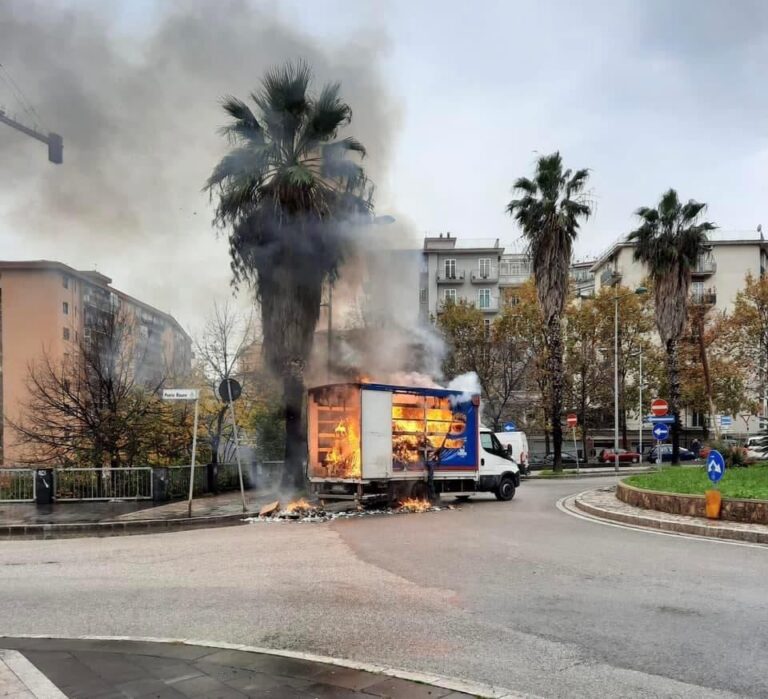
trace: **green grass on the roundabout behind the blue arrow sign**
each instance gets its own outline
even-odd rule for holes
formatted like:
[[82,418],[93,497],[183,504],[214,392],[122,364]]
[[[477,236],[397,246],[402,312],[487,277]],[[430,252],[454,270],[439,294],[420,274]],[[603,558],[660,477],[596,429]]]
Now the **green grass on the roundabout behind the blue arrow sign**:
[[[714,487],[707,478],[705,466],[694,468],[668,466],[654,473],[630,476],[624,482],[636,488],[685,495],[703,495],[704,491]],[[726,469],[718,487],[726,498],[768,500],[768,464]]]

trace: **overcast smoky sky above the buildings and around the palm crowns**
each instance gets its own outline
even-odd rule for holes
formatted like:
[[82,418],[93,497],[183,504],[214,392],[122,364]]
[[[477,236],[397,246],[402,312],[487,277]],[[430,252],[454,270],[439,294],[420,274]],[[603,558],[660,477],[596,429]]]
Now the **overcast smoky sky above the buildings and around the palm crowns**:
[[[580,257],[670,186],[724,229],[768,225],[762,0],[10,0],[0,63],[65,163],[0,125],[2,257],[97,265],[193,326],[227,293],[200,192],[223,148],[216,100],[291,56],[342,80],[379,213],[414,240],[511,243],[510,186],[558,149],[592,170]],[[7,81],[0,105],[19,113]]]

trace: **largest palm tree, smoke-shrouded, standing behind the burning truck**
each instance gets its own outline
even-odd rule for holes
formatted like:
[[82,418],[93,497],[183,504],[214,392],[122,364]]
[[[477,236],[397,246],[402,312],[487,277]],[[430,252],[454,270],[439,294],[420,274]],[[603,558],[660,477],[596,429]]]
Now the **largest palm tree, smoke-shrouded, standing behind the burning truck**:
[[352,110],[338,83],[317,94],[311,84],[305,63],[287,63],[251,94],[255,110],[225,98],[232,121],[221,132],[232,149],[206,183],[218,196],[215,223],[229,229],[233,282],[256,292],[265,359],[282,381],[288,488],[303,483],[304,370],[323,284],[333,282],[344,256],[345,223],[372,215],[372,187],[346,157],[364,156],[365,148],[337,138]]

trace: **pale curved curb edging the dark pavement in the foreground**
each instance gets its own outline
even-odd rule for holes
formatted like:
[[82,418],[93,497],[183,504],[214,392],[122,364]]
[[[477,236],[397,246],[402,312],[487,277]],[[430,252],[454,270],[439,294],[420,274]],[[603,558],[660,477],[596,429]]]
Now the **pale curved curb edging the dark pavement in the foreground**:
[[469,680],[460,680],[452,677],[443,677],[442,675],[433,675],[411,670],[399,670],[397,668],[387,667],[386,665],[358,662],[356,660],[347,660],[345,658],[333,658],[327,655],[316,655],[314,653],[303,653],[301,651],[277,650],[275,648],[261,648],[259,646],[248,646],[240,643],[200,641],[189,638],[153,638],[151,636],[49,636],[45,634],[0,634],[0,640],[3,638],[40,638],[59,641],[138,641],[141,643],[201,646],[217,650],[238,650],[245,653],[274,655],[281,658],[293,658],[295,660],[306,660],[312,663],[345,667],[351,670],[361,670],[363,672],[371,672],[379,675],[386,675],[388,677],[395,677],[401,680],[408,680],[410,682],[419,682],[433,687],[440,687],[441,689],[448,689],[453,692],[472,694],[476,697],[482,697],[483,699],[538,699],[531,694],[517,694],[505,687],[495,687],[493,685],[471,682]]

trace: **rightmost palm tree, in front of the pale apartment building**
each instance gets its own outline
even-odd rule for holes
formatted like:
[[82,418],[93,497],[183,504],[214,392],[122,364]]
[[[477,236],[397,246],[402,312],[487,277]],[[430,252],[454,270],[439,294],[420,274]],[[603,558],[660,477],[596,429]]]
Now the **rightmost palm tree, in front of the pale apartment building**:
[[708,246],[707,233],[716,228],[700,221],[707,205],[690,199],[681,204],[674,189],[665,192],[654,208],[641,207],[635,213],[641,225],[628,240],[635,243],[634,257],[648,267],[654,282],[656,327],[667,353],[669,407],[672,424],[672,463],[680,456],[680,377],[677,370],[677,342],[685,330],[691,270]]

